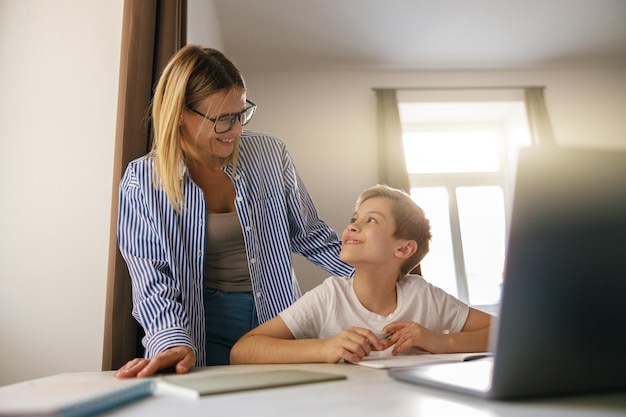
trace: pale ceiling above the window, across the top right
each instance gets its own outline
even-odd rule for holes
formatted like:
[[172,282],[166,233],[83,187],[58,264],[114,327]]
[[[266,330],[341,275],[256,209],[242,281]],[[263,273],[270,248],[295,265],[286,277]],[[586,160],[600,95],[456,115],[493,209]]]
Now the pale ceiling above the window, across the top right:
[[626,0],[214,0],[250,70],[626,68]]

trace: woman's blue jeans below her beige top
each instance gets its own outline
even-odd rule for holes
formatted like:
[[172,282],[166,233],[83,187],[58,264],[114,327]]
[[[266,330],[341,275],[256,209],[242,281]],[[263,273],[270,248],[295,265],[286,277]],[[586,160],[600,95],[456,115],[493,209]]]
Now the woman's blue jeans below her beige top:
[[207,365],[229,365],[230,349],[248,331],[259,325],[250,292],[204,289]]

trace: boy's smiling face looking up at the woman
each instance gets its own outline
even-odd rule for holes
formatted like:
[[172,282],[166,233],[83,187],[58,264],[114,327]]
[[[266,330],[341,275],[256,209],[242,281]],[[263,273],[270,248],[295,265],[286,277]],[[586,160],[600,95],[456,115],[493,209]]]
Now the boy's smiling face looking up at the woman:
[[392,215],[393,202],[386,197],[365,200],[342,233],[340,257],[352,266],[383,265],[392,259],[404,239],[393,236],[396,222]]

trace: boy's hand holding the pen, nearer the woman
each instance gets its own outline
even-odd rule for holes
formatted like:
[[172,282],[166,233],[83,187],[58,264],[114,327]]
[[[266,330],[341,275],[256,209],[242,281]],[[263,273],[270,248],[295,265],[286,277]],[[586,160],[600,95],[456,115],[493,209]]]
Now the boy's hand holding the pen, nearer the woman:
[[389,346],[387,343],[380,342],[371,330],[350,327],[337,336],[324,339],[322,355],[328,363],[337,363],[341,359],[358,362],[373,350],[386,349]]

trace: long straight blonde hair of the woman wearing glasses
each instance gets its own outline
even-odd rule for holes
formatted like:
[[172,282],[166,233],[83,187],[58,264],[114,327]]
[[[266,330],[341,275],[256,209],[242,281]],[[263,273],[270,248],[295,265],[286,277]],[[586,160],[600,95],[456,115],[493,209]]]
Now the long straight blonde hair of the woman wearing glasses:
[[[185,156],[179,124],[185,107],[206,99],[218,91],[246,89],[239,69],[215,49],[187,45],[169,61],[156,85],[151,105],[152,150],[155,158],[153,181],[163,187],[176,211],[183,208],[182,172]],[[223,159],[222,166],[235,162],[234,152]]]

